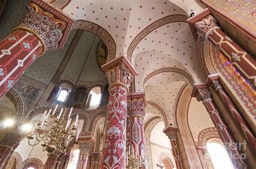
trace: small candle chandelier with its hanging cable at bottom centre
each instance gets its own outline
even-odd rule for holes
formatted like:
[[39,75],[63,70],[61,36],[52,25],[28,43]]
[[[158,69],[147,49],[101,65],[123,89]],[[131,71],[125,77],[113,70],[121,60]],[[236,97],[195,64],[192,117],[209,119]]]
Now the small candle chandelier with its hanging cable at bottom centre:
[[143,164],[145,161],[144,157],[139,156],[139,150],[136,149],[134,151],[133,147],[133,118],[132,118],[132,85],[131,85],[131,113],[130,113],[130,121],[131,121],[131,146],[128,147],[128,151],[126,152],[126,168],[129,169],[140,169],[143,168]]

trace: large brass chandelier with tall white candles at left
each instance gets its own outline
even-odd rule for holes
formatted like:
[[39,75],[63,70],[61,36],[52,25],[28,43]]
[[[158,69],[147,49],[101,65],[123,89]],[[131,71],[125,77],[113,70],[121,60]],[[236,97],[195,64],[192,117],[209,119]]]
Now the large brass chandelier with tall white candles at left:
[[35,143],[31,143],[31,140],[34,139],[32,134],[27,137],[29,139],[28,142],[30,146],[35,146],[42,143],[41,145],[43,146],[43,151],[52,153],[57,150],[60,153],[64,153],[69,144],[75,146],[78,143],[77,139],[80,133],[80,130],[77,130],[78,114],[76,116],[75,124],[70,126],[72,120],[70,115],[73,107],[71,107],[69,116],[66,119],[65,114],[68,111],[68,107],[65,107],[64,112],[62,108],[56,118],[54,114],[57,107],[58,105],[55,106],[52,114],[52,109],[50,109],[48,113],[47,110],[44,112],[42,119],[36,124],[37,129],[35,129],[33,133],[33,135],[36,135]]

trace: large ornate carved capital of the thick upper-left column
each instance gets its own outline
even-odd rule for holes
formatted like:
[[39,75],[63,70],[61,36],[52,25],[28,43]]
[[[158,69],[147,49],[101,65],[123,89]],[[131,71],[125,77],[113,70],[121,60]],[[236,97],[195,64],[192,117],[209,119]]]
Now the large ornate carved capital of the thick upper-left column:
[[65,22],[53,18],[51,13],[44,12],[36,4],[30,4],[28,9],[29,12],[17,29],[28,28],[34,31],[42,38],[47,51],[57,49],[58,42],[62,38],[62,31],[66,26]]

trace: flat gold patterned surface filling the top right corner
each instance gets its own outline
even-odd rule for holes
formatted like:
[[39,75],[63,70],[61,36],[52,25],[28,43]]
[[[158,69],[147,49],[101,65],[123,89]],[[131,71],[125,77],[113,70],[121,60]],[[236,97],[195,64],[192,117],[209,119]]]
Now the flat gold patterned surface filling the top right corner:
[[256,12],[254,0],[201,0],[214,10],[217,10],[228,19],[238,24],[254,36],[256,25]]

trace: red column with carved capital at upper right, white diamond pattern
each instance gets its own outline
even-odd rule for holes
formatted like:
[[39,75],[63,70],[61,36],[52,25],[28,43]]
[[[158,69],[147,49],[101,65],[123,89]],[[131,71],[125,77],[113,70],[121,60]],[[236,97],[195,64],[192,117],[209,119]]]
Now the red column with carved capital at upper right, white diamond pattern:
[[[212,44],[217,46],[223,56],[230,62],[235,69],[246,79],[250,80],[252,85],[256,85],[256,60],[245,50],[235,43],[218,26],[216,19],[211,15],[210,10],[206,9],[200,15],[189,18],[191,31],[194,40],[197,33],[198,37],[204,37]],[[197,32],[196,32],[197,31]]]

